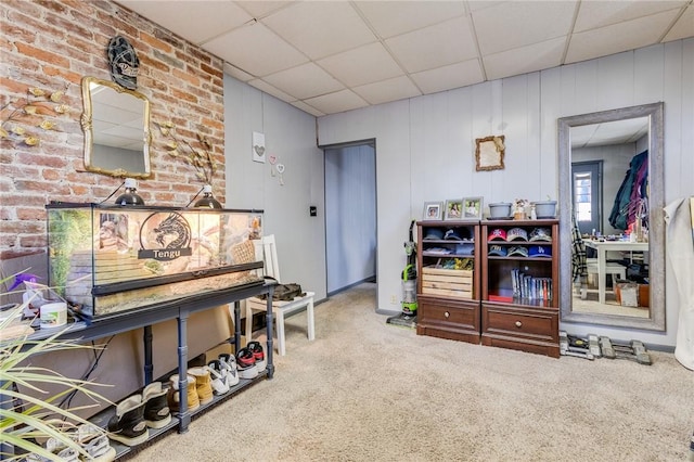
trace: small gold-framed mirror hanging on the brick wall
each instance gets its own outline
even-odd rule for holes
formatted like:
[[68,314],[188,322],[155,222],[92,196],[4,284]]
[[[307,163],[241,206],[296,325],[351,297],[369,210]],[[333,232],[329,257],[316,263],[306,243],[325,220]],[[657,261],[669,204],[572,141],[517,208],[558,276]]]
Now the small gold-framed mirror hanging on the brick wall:
[[85,167],[112,177],[147,178],[150,101],[93,77],[82,79]]

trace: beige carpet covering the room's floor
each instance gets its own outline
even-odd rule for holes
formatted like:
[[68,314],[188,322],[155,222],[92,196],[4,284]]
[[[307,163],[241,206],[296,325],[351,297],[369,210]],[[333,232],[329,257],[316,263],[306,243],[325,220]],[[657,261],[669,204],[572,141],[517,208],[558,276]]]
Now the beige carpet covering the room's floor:
[[362,284],[287,321],[277,372],[137,461],[682,461],[694,373],[417,336]]

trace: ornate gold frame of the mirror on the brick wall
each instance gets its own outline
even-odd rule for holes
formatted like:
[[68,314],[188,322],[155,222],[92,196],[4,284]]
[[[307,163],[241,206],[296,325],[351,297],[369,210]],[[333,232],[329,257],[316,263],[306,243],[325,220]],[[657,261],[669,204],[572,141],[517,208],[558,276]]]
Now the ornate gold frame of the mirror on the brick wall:
[[[142,162],[137,158],[136,162],[141,164],[141,168],[132,166],[119,166],[113,163],[113,158],[108,162],[99,159],[99,153],[94,149],[94,110],[92,89],[95,87],[106,87],[114,90],[119,95],[130,95],[136,101],[142,102]],[[152,144],[152,133],[150,130],[150,100],[142,93],[128,90],[118,84],[108,80],[98,79],[95,77],[83,77],[81,81],[83,112],[80,119],[82,131],[85,132],[85,168],[87,171],[107,175],[111,177],[129,177],[129,178],[149,178],[152,175],[150,146]],[[117,121],[114,121],[117,124]],[[133,142],[139,141],[139,134],[131,138]],[[113,157],[113,156],[111,156]]]

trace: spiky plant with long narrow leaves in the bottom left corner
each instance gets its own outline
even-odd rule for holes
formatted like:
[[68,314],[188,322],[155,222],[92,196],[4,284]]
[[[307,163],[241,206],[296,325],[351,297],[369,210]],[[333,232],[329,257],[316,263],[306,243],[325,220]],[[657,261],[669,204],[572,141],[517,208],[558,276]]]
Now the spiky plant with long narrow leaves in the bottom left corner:
[[[0,283],[7,280],[1,280]],[[111,402],[89,389],[98,384],[34,367],[30,358],[52,351],[94,347],[61,341],[62,330],[47,338],[31,339],[26,332],[14,329],[18,325],[16,320],[21,319],[29,301],[15,305],[0,319],[0,396],[3,405],[0,409],[0,449],[3,460],[23,459],[26,454],[21,453],[24,452],[46,460],[61,461],[64,460],[64,457],[59,454],[61,450],[89,459],[92,455],[86,449],[86,439],[93,441],[94,438],[104,438],[106,433],[76,414],[78,410],[87,407],[64,409],[61,401],[68,395],[80,392],[95,402]],[[48,394],[43,389],[46,386],[59,386],[64,390],[53,396],[44,396]],[[21,389],[26,389],[27,393]],[[108,455],[115,457],[115,450],[110,447],[108,449]],[[107,457],[104,460],[113,458]]]

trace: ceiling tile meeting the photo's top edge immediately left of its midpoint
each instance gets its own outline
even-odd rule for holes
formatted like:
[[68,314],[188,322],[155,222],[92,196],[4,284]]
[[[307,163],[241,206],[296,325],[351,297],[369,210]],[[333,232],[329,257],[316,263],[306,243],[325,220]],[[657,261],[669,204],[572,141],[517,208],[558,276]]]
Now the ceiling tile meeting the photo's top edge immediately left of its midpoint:
[[349,2],[297,2],[262,20],[312,60],[376,41]]

